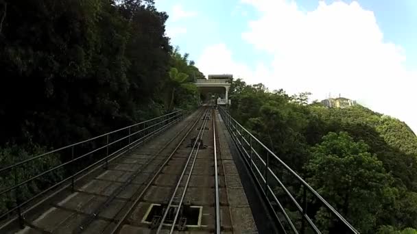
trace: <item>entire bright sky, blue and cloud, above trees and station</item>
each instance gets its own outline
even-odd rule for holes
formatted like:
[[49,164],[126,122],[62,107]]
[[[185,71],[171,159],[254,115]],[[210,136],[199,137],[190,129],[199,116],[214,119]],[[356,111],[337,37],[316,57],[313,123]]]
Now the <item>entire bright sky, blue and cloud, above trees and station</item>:
[[156,0],[204,75],[339,95],[417,133],[416,0]]

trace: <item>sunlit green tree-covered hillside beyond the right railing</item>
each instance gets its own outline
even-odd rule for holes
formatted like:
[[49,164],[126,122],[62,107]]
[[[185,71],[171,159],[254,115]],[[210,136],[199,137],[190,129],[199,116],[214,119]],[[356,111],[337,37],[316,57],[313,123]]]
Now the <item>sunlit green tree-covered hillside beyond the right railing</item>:
[[[416,135],[404,122],[360,105],[309,105],[308,95],[237,79],[230,113],[361,233],[416,233]],[[299,194],[293,181],[285,182]],[[322,219],[326,213],[315,216],[332,225]]]

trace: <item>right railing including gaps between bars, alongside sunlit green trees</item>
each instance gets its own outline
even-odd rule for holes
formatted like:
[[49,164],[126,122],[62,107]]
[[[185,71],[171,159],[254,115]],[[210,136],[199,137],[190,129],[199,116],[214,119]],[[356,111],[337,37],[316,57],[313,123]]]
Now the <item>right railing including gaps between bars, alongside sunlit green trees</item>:
[[[318,192],[242,127],[224,108],[219,107],[219,112],[283,233],[359,233]],[[284,185],[285,181],[294,182]],[[321,218],[326,218],[327,224],[314,221],[319,210],[326,212],[326,216]]]

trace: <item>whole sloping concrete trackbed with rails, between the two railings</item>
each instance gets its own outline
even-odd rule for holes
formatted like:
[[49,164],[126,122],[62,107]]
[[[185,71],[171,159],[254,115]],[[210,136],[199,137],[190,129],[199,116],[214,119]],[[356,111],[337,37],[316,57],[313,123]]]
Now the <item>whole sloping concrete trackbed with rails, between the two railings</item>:
[[236,216],[252,215],[236,203],[246,196],[215,113],[203,107],[133,148],[19,233],[239,233]]

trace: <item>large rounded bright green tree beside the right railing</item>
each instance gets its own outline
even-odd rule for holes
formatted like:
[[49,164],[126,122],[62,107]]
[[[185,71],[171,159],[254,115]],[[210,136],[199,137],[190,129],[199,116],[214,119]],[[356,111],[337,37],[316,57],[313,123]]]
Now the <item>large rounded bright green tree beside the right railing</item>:
[[308,183],[362,233],[372,233],[383,204],[396,196],[392,176],[368,151],[346,132],[329,133],[311,148],[305,166]]

